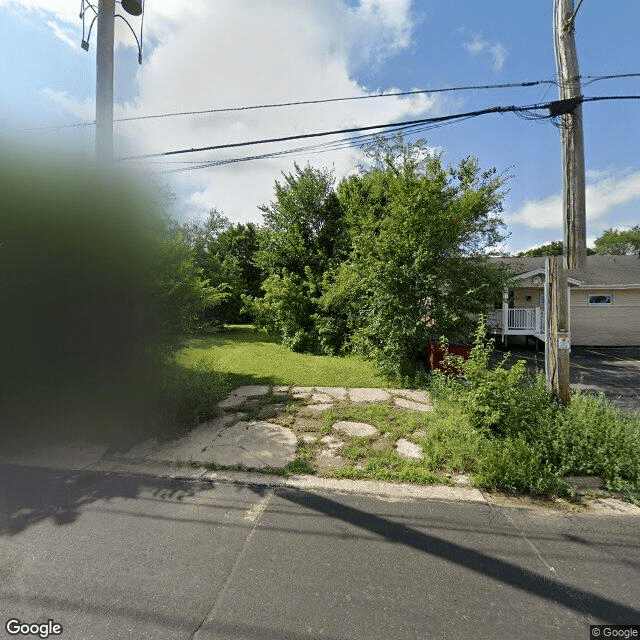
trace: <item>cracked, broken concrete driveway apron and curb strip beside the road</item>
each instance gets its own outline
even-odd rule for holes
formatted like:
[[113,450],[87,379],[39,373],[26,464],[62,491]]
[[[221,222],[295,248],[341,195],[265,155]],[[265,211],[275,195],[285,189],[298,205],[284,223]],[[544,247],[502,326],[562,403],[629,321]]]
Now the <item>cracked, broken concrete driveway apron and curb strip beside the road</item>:
[[[345,403],[368,405],[392,402],[401,409],[429,412],[432,406],[424,391],[410,389],[366,389],[343,387],[247,386],[233,391],[219,403],[223,414],[205,422],[186,436],[160,443],[155,439],[138,443],[127,451],[111,452],[106,445],[62,442],[35,444],[0,455],[0,464],[68,471],[130,473],[159,478],[204,480],[231,484],[301,490],[331,490],[392,499],[437,499],[475,503],[527,504],[526,498],[489,494],[469,486],[466,476],[454,476],[454,485],[420,486],[317,477],[277,475],[256,471],[210,470],[239,466],[249,469],[280,469],[295,459],[300,442],[315,443],[317,458],[339,465],[335,454],[346,434],[367,436],[377,430],[359,422],[336,421],[332,435],[317,431],[317,417],[323,411]],[[289,404],[287,404],[289,403]],[[281,410],[288,408],[289,412]],[[293,418],[292,413],[293,411]],[[252,414],[253,417],[247,414]],[[256,415],[271,416],[257,419]],[[305,429],[296,434],[279,424],[303,420]],[[314,422],[315,420],[315,422]],[[310,426],[311,425],[311,426]],[[315,429],[315,431],[314,431]],[[420,447],[399,438],[396,451],[407,458],[421,455]],[[213,463],[213,464],[212,464]],[[331,467],[330,467],[331,468]],[[539,504],[535,501],[530,504]],[[591,511],[610,514],[638,514],[640,508],[615,497],[599,497],[587,503]]]

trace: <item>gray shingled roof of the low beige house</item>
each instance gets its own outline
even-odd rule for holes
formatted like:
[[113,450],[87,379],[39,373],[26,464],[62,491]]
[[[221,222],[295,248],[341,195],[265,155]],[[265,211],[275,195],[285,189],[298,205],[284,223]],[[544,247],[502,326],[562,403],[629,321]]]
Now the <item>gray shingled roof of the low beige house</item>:
[[[545,257],[492,258],[508,265],[514,274],[544,269]],[[580,280],[583,287],[589,285],[636,285],[640,287],[640,255],[587,256],[587,268],[583,271],[569,269],[571,278]]]

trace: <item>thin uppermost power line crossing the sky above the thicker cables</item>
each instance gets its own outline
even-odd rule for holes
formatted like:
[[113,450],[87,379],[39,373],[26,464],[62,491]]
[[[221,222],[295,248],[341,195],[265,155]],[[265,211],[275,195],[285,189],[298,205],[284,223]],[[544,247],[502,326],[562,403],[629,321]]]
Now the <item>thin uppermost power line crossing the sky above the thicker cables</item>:
[[[637,78],[640,77],[640,73],[620,73],[620,74],[609,74],[609,75],[599,75],[599,76],[582,76],[583,80],[587,80],[584,83],[584,86],[592,84],[594,82],[599,82],[601,80],[614,80],[620,78]],[[557,86],[557,80],[532,80],[525,82],[507,82],[501,84],[483,84],[483,85],[463,85],[458,87],[445,87],[438,89],[416,89],[412,91],[395,91],[389,93],[379,93],[373,95],[366,96],[348,96],[348,97],[339,97],[339,98],[322,98],[318,100],[298,100],[292,102],[275,102],[268,104],[258,104],[258,105],[246,105],[241,107],[218,107],[214,109],[202,109],[202,110],[192,110],[192,111],[175,111],[169,113],[158,113],[158,114],[148,114],[142,116],[129,116],[126,118],[115,118],[114,122],[133,122],[138,120],[156,120],[160,118],[174,118],[180,116],[194,116],[194,115],[207,115],[212,113],[232,113],[236,111],[252,111],[258,109],[276,109],[282,107],[295,107],[295,106],[305,106],[312,104],[330,104],[333,102],[347,102],[347,101],[356,101],[356,100],[371,100],[377,98],[392,98],[392,97],[403,97],[403,96],[413,96],[413,95],[425,95],[430,93],[447,93],[447,92],[456,92],[456,91],[475,91],[475,90],[488,90],[488,89],[513,89],[513,88],[527,88],[527,87],[535,87],[539,85],[550,85]],[[37,129],[25,129],[25,131],[53,131],[58,129],[71,129],[76,127],[90,127],[94,126],[95,122],[77,122],[74,124],[66,124],[66,125],[53,125],[49,127],[40,127]]]

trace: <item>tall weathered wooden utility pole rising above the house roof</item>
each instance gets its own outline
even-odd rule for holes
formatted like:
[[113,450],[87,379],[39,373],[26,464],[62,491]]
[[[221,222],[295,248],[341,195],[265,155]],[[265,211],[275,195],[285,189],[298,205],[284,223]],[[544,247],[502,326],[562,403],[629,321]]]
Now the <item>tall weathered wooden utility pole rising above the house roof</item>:
[[580,98],[580,71],[574,38],[573,0],[554,0],[553,33],[560,100],[567,101],[558,110],[561,118],[564,255],[569,269],[584,269],[587,264],[587,223],[584,186],[584,134]]

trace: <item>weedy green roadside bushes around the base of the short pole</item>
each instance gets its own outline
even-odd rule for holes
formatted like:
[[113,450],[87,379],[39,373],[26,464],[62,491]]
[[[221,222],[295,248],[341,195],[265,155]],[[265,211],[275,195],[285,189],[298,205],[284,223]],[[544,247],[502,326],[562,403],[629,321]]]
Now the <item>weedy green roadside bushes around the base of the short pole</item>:
[[466,362],[447,356],[464,377],[431,375],[431,395],[446,416],[429,430],[432,463],[447,449],[462,453],[468,467],[475,456],[477,484],[516,493],[560,491],[572,474],[602,476],[615,491],[640,489],[640,421],[604,396],[574,393],[568,407],[556,405],[544,376],[529,374],[524,361],[507,369],[505,357],[490,367],[484,332],[481,323]]

